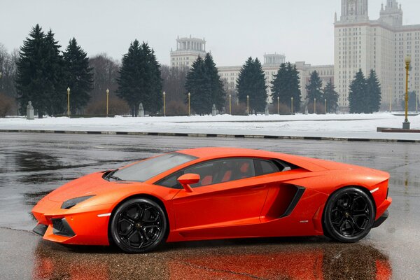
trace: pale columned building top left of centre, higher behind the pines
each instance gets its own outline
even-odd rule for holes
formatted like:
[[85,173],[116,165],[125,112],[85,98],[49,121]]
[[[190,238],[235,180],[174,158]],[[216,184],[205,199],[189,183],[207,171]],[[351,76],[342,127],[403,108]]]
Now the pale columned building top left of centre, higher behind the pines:
[[195,59],[200,55],[206,56],[206,40],[204,38],[176,38],[176,50],[171,48],[171,66],[191,67]]

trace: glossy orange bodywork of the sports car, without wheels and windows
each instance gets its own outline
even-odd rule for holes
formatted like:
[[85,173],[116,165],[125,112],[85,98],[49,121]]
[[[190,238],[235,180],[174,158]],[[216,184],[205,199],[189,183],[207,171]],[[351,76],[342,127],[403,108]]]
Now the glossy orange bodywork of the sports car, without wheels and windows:
[[[109,221],[114,209],[139,196],[153,197],[164,206],[169,221],[168,242],[323,235],[325,203],[335,190],[346,186],[358,186],[370,194],[375,220],[391,204],[389,174],[375,169],[243,148],[195,148],[178,153],[192,155],[195,160],[144,182],[107,181],[104,172],[97,172],[52,191],[32,211],[38,225],[47,226],[43,239],[63,244],[109,245]],[[295,168],[201,186],[193,192],[156,184],[181,169],[220,158],[278,159]],[[296,186],[304,188],[304,192],[292,207]],[[64,201],[87,195],[94,196],[71,209],[61,208]],[[66,218],[74,235],[55,234],[54,218]]]

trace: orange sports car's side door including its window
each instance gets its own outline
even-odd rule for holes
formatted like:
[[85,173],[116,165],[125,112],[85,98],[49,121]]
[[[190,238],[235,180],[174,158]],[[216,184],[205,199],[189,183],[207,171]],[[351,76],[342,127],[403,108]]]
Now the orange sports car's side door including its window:
[[255,179],[251,158],[211,160],[183,171],[200,174],[192,193],[181,190],[173,198],[177,230],[199,230],[260,223],[267,186]]

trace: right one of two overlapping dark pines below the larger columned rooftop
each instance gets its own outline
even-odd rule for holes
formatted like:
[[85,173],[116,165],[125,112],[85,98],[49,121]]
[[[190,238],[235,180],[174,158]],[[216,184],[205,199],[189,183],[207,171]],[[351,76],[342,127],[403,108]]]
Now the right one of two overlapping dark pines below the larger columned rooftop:
[[221,76],[218,74],[216,63],[214,63],[213,57],[207,52],[204,58],[204,69],[207,76],[207,80],[211,88],[211,106],[216,105],[216,108],[221,111],[225,104],[226,92],[223,89],[223,82]]

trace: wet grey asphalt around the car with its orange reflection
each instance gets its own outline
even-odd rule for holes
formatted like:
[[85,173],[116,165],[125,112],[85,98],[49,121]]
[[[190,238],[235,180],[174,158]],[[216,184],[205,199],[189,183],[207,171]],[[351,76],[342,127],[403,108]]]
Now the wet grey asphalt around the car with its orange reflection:
[[[183,148],[236,146],[381,169],[390,216],[356,244],[325,237],[166,244],[143,255],[61,246],[31,233],[31,207],[66,181]],[[419,144],[0,133],[0,279],[420,279]]]

